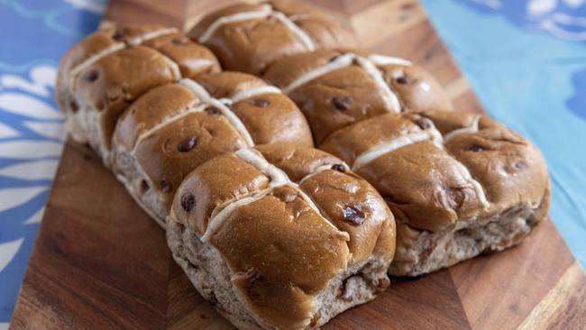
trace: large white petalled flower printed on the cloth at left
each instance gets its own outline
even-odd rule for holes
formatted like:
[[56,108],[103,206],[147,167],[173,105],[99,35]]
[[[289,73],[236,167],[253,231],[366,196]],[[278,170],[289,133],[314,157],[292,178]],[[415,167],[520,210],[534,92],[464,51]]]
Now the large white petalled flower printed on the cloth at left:
[[[55,175],[63,142],[63,115],[52,105],[55,75],[55,67],[43,65],[33,67],[28,77],[0,76],[0,112],[13,116],[0,123],[0,221],[48,190]],[[41,218],[38,212],[35,216]],[[23,237],[10,242],[1,238],[0,274],[24,242]]]

